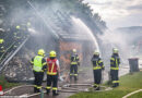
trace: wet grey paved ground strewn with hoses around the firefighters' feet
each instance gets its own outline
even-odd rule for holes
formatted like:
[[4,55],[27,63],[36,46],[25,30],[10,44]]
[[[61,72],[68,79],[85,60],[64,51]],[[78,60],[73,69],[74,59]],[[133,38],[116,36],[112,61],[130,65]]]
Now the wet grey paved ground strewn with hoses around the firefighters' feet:
[[[93,75],[93,74],[92,74]],[[72,78],[71,84],[90,84],[88,86],[71,86],[68,87],[69,83],[64,83],[64,82],[59,82],[59,96],[54,97],[52,93],[50,93],[50,95],[46,95],[46,90],[44,89],[44,97],[45,98],[68,98],[69,96],[79,93],[81,90],[84,90],[85,88],[91,87],[91,84],[93,82],[93,79],[91,75],[88,75],[88,73],[80,73],[79,74],[79,81],[74,82],[74,78]],[[64,87],[67,86],[67,87]],[[46,83],[43,83],[43,87],[46,87]],[[9,90],[7,90],[9,91]],[[24,98],[40,98],[42,95],[36,95],[33,91],[33,86],[32,85],[23,85],[22,87],[17,87],[17,88],[13,88],[11,91],[4,94],[4,96],[21,96]]]

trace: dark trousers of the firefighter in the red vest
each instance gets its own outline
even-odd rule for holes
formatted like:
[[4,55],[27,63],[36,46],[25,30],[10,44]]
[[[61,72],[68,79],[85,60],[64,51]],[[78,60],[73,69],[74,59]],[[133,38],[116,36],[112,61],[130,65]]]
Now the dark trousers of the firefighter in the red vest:
[[47,94],[49,94],[52,83],[52,94],[57,94],[57,84],[58,84],[58,74],[57,75],[47,75]]

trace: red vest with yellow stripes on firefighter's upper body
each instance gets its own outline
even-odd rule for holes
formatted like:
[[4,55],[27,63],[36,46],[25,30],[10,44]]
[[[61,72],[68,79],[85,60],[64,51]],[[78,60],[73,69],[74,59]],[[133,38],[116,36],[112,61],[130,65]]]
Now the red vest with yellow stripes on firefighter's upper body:
[[59,66],[59,61],[57,59],[47,59],[47,75],[57,75],[58,73],[58,66]]

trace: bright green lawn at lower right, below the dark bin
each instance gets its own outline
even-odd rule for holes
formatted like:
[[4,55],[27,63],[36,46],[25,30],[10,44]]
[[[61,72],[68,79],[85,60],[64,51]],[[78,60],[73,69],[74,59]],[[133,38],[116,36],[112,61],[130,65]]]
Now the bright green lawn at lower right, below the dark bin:
[[[106,85],[107,86],[107,85]],[[122,98],[127,94],[142,89],[142,72],[127,74],[120,77],[120,86],[108,91],[79,93],[69,98]],[[130,98],[142,98],[142,93],[134,94]]]

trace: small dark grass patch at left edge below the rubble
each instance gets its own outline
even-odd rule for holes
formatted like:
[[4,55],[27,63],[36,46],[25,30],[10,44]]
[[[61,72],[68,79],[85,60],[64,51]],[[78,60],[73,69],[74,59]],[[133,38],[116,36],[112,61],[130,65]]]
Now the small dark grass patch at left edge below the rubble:
[[9,83],[9,82],[4,78],[4,76],[2,75],[2,76],[0,76],[0,85],[2,86],[3,89],[5,89],[5,88],[13,87],[13,86],[17,86],[17,85],[20,85],[20,84],[17,84],[17,83]]

